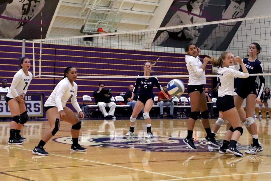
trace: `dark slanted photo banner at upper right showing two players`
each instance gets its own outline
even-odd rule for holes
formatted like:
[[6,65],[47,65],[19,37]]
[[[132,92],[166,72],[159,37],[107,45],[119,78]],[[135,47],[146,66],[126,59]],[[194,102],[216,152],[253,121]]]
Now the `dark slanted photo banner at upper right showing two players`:
[[[160,27],[246,17],[256,0],[174,0]],[[160,30],[152,45],[184,48],[193,43],[204,50],[225,51],[241,21]]]

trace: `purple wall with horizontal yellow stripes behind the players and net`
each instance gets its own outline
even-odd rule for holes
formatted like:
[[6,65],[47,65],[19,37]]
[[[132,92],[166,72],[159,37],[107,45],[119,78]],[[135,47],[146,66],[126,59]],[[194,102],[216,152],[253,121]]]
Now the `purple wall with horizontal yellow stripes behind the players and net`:
[[[21,42],[0,40],[0,79],[7,78],[10,86],[14,74],[18,70],[21,56]],[[39,70],[39,44],[35,44],[36,74]],[[32,60],[32,43],[26,43],[26,57]],[[58,46],[43,44],[42,49],[42,74],[64,75],[64,68],[74,66],[77,68],[78,76],[137,76],[142,73],[142,65],[146,61],[152,63],[159,58],[154,66],[154,75],[188,75],[185,66],[185,54],[168,52],[148,52],[139,50],[106,49],[83,46]],[[33,62],[31,62],[33,65]],[[30,68],[33,73],[33,67]],[[212,66],[207,65],[206,74],[211,74]],[[158,78],[162,86],[173,78]],[[188,78],[180,78],[187,87]],[[61,78],[42,77],[34,78],[28,88],[28,92],[44,92],[45,100],[51,94],[55,85]],[[98,88],[99,82],[105,83],[106,88],[113,88],[112,95],[117,96],[121,92],[128,91],[130,84],[135,84],[136,78],[78,78],[77,100],[82,104],[83,95],[90,95]],[[207,87],[212,87],[211,78],[207,78]],[[154,88],[155,96],[159,90]],[[187,89],[183,94],[188,97]],[[94,102],[94,101],[93,101]],[[69,103],[70,107],[71,104]]]

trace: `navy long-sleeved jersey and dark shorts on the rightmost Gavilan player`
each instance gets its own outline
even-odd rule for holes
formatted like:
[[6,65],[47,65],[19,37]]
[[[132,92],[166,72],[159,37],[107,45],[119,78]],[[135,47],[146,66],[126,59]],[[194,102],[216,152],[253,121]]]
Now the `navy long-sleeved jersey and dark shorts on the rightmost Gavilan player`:
[[[263,64],[256,59],[254,62],[248,61],[248,58],[243,59],[243,62],[248,69],[249,74],[262,74],[263,73]],[[240,67],[239,71],[243,71],[242,67]],[[248,90],[248,91],[254,91],[256,92],[256,86],[255,86],[255,80],[257,76],[249,76],[248,78],[236,78],[235,84],[236,84],[236,92],[238,94],[238,90]],[[260,79],[260,85],[259,85],[259,91],[257,93],[257,98],[260,98],[261,94],[263,92],[264,88],[264,76],[259,76]],[[238,94],[239,95],[239,94]]]

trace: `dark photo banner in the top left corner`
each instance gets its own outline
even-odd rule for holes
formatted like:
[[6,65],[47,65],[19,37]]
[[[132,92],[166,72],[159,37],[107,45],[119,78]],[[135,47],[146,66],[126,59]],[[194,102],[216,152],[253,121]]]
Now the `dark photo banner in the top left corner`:
[[41,27],[42,38],[45,38],[58,2],[59,0],[1,0],[0,38],[40,39]]

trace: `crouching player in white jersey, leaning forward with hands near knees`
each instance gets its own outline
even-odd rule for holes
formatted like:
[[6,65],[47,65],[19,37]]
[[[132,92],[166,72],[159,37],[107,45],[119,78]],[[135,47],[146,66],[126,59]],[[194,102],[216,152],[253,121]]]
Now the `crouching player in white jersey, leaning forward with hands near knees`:
[[71,100],[74,109],[78,112],[80,117],[84,119],[84,114],[76,100],[77,84],[74,82],[76,78],[76,68],[65,68],[64,78],[57,84],[49,98],[46,100],[44,108],[51,128],[48,129],[42,136],[38,146],[33,149],[33,154],[42,156],[48,155],[48,152],[44,150],[43,146],[58,132],[60,119],[73,125],[71,129],[73,144],[71,145],[70,151],[87,150],[78,144],[81,121],[79,121],[75,113],[73,113],[73,111],[66,106],[67,101]]

